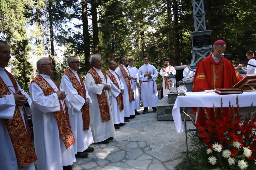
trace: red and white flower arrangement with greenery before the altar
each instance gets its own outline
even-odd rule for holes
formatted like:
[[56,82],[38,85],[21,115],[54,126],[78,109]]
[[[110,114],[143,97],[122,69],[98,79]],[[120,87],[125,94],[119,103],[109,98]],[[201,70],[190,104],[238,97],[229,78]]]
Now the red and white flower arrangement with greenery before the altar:
[[[207,117],[204,127],[185,113],[196,127],[195,133],[188,130],[191,149],[182,152],[189,169],[256,170],[256,117],[251,108],[245,120],[241,120],[238,98],[237,108],[229,106],[229,114],[223,114],[221,101],[220,112],[214,107],[213,119],[204,109]],[[180,165],[175,168],[184,169]]]

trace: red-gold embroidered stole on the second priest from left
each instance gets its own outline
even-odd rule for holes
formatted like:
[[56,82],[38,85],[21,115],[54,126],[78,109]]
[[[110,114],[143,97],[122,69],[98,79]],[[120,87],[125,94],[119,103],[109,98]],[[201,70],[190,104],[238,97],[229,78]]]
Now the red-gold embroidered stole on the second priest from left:
[[[36,82],[36,84],[42,89],[45,96],[49,96],[53,93],[55,93],[53,87],[40,75],[37,75],[32,81]],[[60,90],[60,86],[57,84],[56,81],[52,79],[52,81],[56,84],[58,89]],[[66,146],[66,148],[70,147],[75,143],[75,138],[73,136],[73,133],[71,131],[71,126],[69,125],[69,117],[68,117],[68,109],[66,107],[66,103],[64,100],[64,107],[66,109],[66,112],[64,113],[61,100],[59,100],[61,111],[59,112],[53,112],[57,124],[59,133],[61,135],[61,138]],[[65,115],[66,114],[66,115]]]

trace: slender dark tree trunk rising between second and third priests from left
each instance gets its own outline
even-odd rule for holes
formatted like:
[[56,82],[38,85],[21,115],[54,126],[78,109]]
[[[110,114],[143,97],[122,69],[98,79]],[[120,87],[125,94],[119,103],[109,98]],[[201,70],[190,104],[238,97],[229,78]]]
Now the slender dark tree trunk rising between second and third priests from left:
[[52,59],[53,63],[53,75],[52,78],[56,80],[57,73],[56,73],[56,63],[54,58],[54,42],[53,42],[53,14],[52,14],[52,1],[49,1],[48,4],[48,10],[49,10],[49,22],[50,22],[50,41],[51,41],[51,55],[50,58]]

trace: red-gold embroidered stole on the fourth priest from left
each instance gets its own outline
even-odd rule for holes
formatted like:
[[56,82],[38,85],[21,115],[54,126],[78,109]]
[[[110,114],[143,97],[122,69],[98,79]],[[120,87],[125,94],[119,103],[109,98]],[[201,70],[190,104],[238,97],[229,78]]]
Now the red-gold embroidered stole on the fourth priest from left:
[[[100,71],[104,75],[104,77],[106,79],[106,83],[107,83],[106,73],[104,71],[102,71],[101,69],[100,69]],[[96,84],[102,84],[102,80],[101,80],[99,74],[97,73],[97,71],[94,68],[91,68],[88,71],[88,73],[90,73],[92,75]],[[110,115],[109,115],[109,112],[108,112],[109,107],[107,105],[107,98],[106,98],[106,94],[105,94],[104,89],[102,89],[101,95],[97,94],[97,99],[98,99],[98,103],[99,103],[102,122],[110,120]]]

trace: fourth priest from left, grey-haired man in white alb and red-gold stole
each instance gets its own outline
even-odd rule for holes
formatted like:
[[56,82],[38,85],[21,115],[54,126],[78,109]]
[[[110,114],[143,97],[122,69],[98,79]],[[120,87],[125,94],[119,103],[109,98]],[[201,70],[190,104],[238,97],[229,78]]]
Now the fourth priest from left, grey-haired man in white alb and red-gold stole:
[[92,55],[89,62],[93,67],[86,74],[85,85],[92,99],[90,107],[92,136],[94,142],[107,144],[109,139],[116,138],[108,92],[110,80],[101,70],[102,60],[99,54]]

